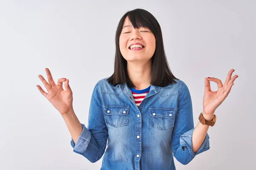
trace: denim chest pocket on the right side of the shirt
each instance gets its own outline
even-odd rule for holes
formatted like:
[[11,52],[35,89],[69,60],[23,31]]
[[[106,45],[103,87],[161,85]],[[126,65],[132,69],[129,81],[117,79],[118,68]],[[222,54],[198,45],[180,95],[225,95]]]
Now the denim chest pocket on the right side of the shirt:
[[174,127],[176,108],[150,107],[150,125],[159,130]]

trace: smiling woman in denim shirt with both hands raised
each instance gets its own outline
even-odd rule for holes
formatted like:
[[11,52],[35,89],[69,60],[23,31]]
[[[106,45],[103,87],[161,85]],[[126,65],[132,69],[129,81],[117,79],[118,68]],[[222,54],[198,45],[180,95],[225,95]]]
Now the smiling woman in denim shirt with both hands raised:
[[[134,9],[117,27],[114,73],[96,83],[87,127],[73,110],[68,79],[60,78],[55,85],[46,68],[49,83],[38,77],[48,93],[37,87],[64,118],[75,153],[90,162],[105,153],[101,170],[175,170],[173,156],[188,164],[209,150],[207,130],[238,77],[231,78],[233,71],[224,85],[205,78],[203,111],[194,127],[189,89],[169,69],[159,23],[148,11]],[[218,91],[211,91],[209,81],[217,83]]]

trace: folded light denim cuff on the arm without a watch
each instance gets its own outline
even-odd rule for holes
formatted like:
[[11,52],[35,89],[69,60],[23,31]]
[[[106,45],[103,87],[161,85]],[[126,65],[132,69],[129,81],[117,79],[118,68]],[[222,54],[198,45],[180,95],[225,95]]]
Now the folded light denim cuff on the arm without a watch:
[[75,153],[79,153],[80,155],[83,155],[85,150],[87,149],[87,146],[90,142],[91,133],[90,131],[85,127],[84,124],[81,123],[82,126],[82,132],[77,139],[76,143],[74,142],[73,138],[71,137],[70,144],[73,147],[73,151]]

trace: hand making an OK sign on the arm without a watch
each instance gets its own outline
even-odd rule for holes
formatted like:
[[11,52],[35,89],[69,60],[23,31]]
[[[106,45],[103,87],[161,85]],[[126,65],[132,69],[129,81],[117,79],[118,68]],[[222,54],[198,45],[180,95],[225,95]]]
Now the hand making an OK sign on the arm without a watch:
[[[38,75],[39,79],[44,84],[44,87],[47,89],[48,93],[46,93],[40,85],[36,85],[38,90],[43,94],[49,102],[61,113],[65,114],[73,109],[73,93],[71,91],[69,80],[65,78],[58,79],[57,85],[52,79],[52,74],[48,68],[45,68],[47,78],[49,83],[44,79],[43,76]],[[62,88],[64,82],[64,87],[66,90]]]

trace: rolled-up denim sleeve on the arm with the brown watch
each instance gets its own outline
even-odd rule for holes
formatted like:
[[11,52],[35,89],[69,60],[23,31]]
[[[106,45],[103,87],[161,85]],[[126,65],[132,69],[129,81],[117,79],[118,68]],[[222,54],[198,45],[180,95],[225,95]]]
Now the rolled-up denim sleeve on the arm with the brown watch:
[[172,150],[175,158],[181,164],[188,164],[196,155],[209,150],[209,135],[196,153],[192,151],[192,134],[194,131],[192,100],[187,85],[181,81],[178,111],[172,132]]

